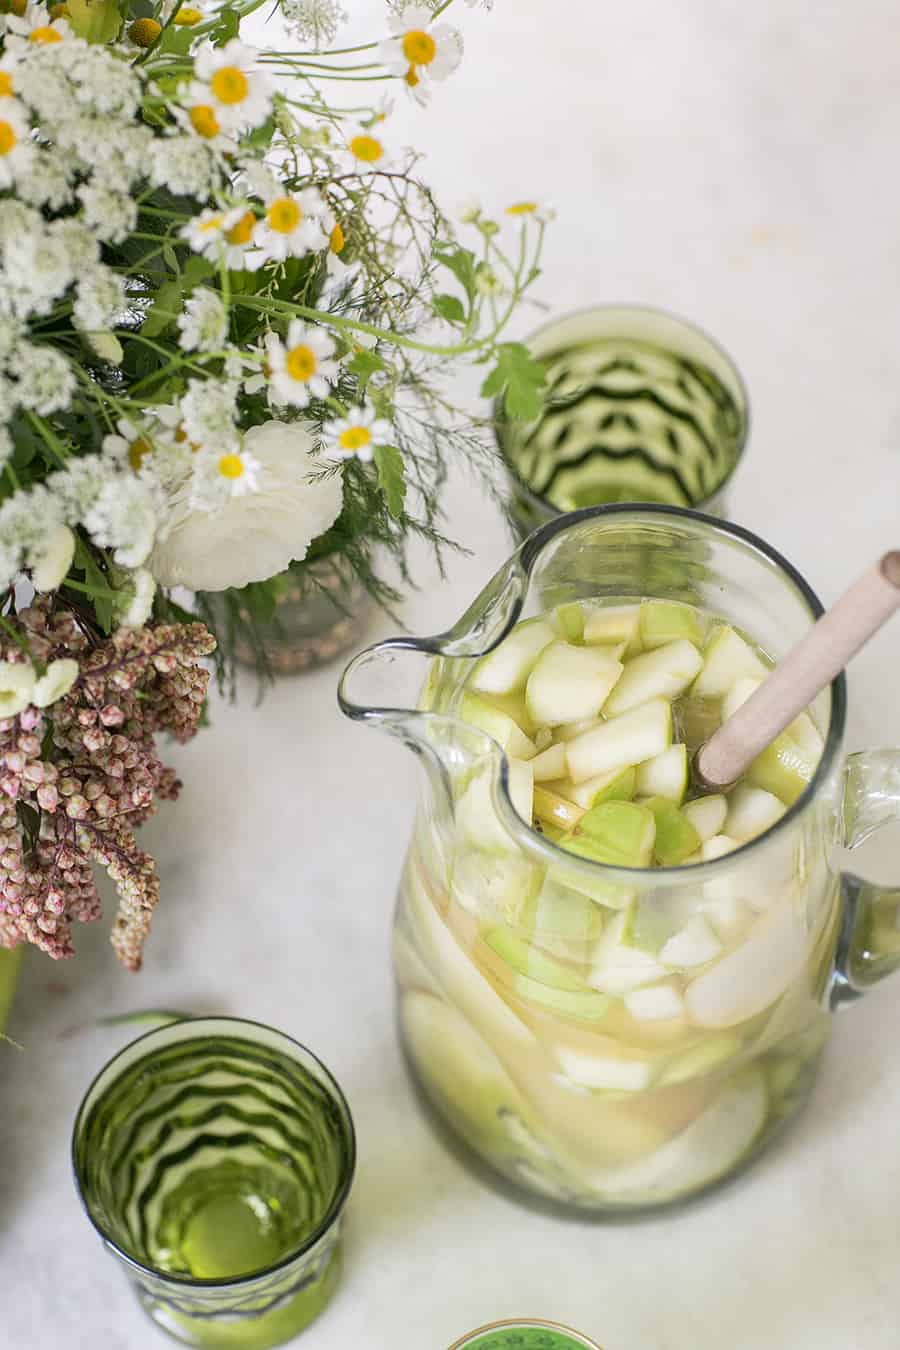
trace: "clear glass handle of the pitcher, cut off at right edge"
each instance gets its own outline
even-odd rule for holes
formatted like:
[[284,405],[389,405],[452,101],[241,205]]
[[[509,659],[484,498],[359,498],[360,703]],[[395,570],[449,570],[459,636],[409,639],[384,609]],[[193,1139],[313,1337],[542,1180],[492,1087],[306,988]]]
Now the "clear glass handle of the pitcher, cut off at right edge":
[[[891,821],[900,821],[900,749],[847,757],[843,842],[857,848]],[[841,876],[842,921],[831,1006],[849,1003],[900,968],[900,882],[877,886],[854,872]]]

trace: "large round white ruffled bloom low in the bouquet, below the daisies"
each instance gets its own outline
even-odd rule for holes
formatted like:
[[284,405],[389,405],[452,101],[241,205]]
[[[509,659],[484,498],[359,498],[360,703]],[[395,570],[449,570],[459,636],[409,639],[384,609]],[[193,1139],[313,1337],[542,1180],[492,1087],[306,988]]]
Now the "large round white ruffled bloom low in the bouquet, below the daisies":
[[255,491],[233,495],[215,510],[192,510],[189,490],[173,500],[148,563],[161,586],[219,591],[267,580],[305,558],[312,541],[337,520],[340,475],[309,482],[320,466],[302,423],[254,427],[244,450],[259,464]]

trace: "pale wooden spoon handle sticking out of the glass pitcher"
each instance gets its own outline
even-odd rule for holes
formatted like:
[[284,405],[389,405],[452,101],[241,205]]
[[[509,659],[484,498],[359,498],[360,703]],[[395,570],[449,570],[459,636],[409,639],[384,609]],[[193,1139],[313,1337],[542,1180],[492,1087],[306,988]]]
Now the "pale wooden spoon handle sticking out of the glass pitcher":
[[746,772],[900,608],[900,551],[885,554],[723,722],[696,756],[698,779],[721,792]]

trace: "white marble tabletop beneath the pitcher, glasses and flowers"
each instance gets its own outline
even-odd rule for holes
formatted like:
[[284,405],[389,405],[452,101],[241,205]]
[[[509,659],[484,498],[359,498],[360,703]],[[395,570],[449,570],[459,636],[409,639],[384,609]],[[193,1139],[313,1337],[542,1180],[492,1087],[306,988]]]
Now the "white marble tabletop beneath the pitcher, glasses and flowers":
[[[378,11],[348,4],[360,31]],[[553,308],[660,304],[731,348],[754,409],[734,513],[834,597],[897,544],[896,4],[498,0],[460,18],[467,59],[430,112],[401,109],[402,135],[451,198],[555,201]],[[413,629],[456,616],[507,551],[471,483],[447,506],[476,556],[428,574]],[[854,667],[850,748],[900,742],[899,664],[900,622]],[[900,979],[841,1018],[812,1108],[731,1189],[630,1226],[517,1207],[445,1152],[403,1076],[387,937],[414,765],[340,718],[335,679],[283,682],[262,709],[247,687],[174,756],[182,801],[147,830],[165,900],[142,976],[101,926],[76,964],[27,967],[24,1053],[0,1045],[3,1346],[165,1343],[80,1212],[67,1143],[130,1037],[96,1017],[175,1006],[282,1026],[347,1088],[348,1269],[310,1350],[444,1350],[517,1314],[607,1350],[896,1350]]]

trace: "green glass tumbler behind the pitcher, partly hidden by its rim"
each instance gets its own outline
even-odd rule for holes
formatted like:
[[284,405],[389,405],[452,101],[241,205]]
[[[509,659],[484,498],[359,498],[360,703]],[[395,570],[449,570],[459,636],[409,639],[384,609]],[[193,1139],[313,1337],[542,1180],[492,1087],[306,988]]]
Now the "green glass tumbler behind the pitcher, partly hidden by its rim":
[[526,339],[546,370],[536,421],[495,412],[519,535],[582,506],[656,502],[725,514],[748,437],[746,389],[699,328],[658,309],[602,305]]

